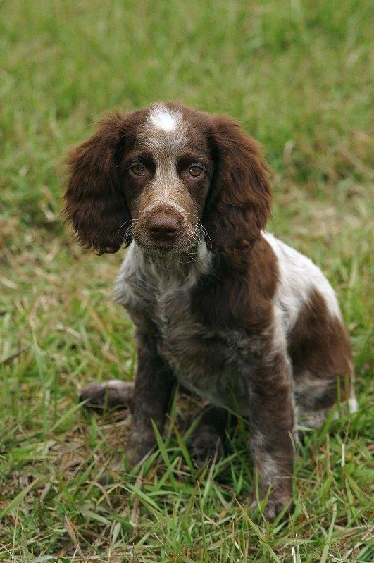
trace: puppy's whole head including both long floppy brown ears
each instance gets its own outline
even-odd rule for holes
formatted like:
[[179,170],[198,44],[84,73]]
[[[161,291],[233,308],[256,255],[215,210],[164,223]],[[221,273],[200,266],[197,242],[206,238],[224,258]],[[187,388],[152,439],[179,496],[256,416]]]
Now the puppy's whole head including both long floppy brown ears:
[[270,209],[267,168],[239,126],[168,102],[113,114],[69,158],[66,216],[86,247],[213,252],[254,244]]

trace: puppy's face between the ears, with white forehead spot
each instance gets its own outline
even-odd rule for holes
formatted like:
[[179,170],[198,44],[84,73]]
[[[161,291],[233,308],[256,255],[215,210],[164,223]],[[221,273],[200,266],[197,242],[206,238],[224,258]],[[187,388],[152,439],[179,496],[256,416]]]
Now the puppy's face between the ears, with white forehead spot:
[[149,252],[189,250],[202,235],[214,165],[201,118],[194,123],[193,117],[188,110],[154,106],[121,162],[131,235]]

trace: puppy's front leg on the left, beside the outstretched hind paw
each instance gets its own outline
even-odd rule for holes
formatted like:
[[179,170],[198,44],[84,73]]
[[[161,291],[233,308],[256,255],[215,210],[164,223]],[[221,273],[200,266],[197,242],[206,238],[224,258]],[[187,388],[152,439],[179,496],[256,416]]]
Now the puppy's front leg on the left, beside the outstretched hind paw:
[[127,458],[131,464],[137,464],[156,445],[151,421],[162,432],[174,386],[173,372],[158,354],[156,338],[138,330],[132,428],[127,443]]

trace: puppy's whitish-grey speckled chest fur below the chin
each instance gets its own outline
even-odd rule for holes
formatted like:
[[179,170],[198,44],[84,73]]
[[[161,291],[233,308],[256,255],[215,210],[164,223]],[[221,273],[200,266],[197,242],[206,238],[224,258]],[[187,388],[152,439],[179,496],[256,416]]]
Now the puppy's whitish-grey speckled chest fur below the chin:
[[213,333],[191,309],[192,288],[208,271],[211,255],[204,245],[193,263],[177,260],[155,264],[132,243],[116,281],[115,299],[139,328],[154,327],[158,350],[182,385],[211,402],[227,404],[227,397],[241,394],[232,353],[237,335]]

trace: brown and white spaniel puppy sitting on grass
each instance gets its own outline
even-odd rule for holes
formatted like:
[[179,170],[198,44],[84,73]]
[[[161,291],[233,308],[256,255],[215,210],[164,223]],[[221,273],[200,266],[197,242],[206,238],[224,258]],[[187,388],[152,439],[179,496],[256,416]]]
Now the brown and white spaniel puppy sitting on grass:
[[239,410],[273,519],[292,497],[297,416],[318,426],[338,386],[351,410],[356,400],[332,287],[263,230],[270,185],[258,144],[230,118],[168,102],[114,113],[68,162],[65,212],[80,244],[129,247],[116,300],[137,342],[135,387],[94,384],[82,397],[131,399],[133,463],[154,447],[151,421],[162,431],[176,382],[211,404],[197,457],[216,452],[225,407]]

